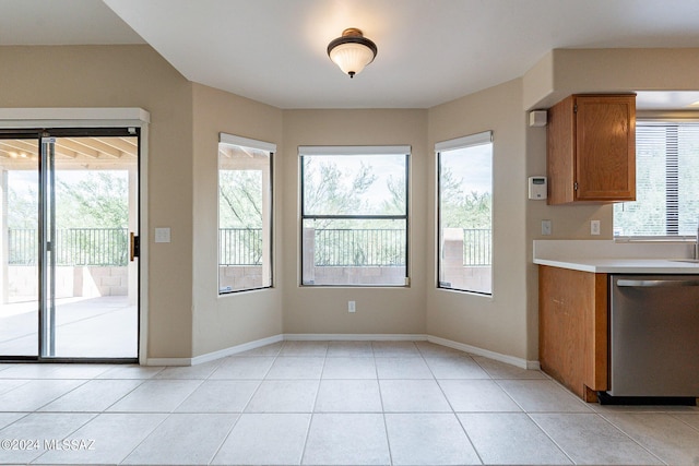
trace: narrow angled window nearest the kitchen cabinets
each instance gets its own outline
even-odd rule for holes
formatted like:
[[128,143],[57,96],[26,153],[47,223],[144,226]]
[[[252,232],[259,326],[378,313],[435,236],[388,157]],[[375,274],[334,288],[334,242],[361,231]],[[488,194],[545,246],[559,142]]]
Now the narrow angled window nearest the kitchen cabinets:
[[438,287],[493,294],[493,132],[435,145]]

